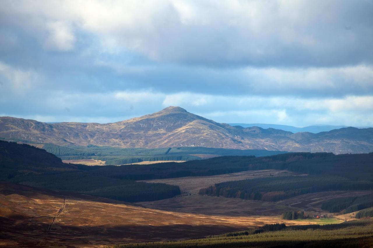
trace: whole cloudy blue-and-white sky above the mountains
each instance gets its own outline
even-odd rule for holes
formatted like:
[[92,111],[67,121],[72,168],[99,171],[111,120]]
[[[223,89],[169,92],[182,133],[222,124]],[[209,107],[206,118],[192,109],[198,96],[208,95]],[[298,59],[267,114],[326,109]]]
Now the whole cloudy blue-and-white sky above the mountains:
[[373,0],[2,0],[0,116],[373,126]]

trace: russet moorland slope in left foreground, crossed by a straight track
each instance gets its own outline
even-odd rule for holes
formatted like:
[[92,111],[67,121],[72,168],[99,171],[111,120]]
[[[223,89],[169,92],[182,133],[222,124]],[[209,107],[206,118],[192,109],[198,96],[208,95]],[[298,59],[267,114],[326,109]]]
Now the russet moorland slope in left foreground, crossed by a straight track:
[[[299,224],[278,216],[223,216],[149,209],[8,182],[0,183],[0,219],[3,247],[97,247],[198,238],[269,223]],[[302,222],[308,223],[311,222]]]

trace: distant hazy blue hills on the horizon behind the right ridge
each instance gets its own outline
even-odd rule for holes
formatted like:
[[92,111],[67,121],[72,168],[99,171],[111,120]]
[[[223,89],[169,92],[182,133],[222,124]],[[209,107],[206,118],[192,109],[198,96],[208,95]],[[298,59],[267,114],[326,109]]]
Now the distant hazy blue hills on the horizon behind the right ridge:
[[[288,125],[277,125],[277,124],[263,124],[263,123],[228,123],[231,126],[241,126],[241,127],[261,127],[261,128],[275,128],[281,129],[284,131],[289,131],[292,133],[299,133],[299,132],[310,132],[310,133],[320,133],[320,132],[327,132],[333,129],[340,129],[345,128],[348,126],[333,126],[333,125],[311,125],[307,127],[293,127]],[[369,128],[369,127],[356,127],[356,128]]]

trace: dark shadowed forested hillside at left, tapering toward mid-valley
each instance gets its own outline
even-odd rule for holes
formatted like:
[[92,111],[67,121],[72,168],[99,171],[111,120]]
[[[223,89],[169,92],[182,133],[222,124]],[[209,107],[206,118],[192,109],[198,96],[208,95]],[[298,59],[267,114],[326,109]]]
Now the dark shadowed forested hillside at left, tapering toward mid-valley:
[[[97,167],[62,163],[60,158],[43,149],[0,140],[0,181],[131,202],[180,194],[177,186],[113,178],[95,173]],[[108,167],[112,174],[116,168]]]

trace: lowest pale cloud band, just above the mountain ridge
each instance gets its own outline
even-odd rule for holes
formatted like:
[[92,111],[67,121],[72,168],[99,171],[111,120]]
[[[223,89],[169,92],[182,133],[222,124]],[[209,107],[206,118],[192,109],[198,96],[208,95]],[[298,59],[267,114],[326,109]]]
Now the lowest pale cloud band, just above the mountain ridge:
[[[0,106],[2,115],[41,121],[107,123],[178,105],[189,112],[224,123],[373,125],[373,104],[370,104],[373,96],[306,99],[194,95],[189,92],[166,94],[152,90],[85,94],[38,90],[27,98],[14,99],[12,95],[4,95],[2,99],[7,103]],[[35,112],[35,109],[38,111]]]

